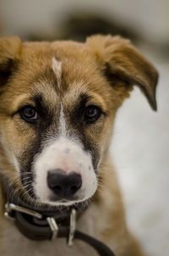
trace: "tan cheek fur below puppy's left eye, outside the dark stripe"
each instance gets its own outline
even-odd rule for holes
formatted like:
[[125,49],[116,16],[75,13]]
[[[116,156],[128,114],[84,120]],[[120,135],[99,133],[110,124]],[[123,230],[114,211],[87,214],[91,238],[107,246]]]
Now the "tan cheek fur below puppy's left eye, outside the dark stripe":
[[7,161],[22,185],[31,185],[34,178],[31,163],[40,149],[40,136],[35,133],[35,129],[18,119],[6,120],[3,131],[3,149]]

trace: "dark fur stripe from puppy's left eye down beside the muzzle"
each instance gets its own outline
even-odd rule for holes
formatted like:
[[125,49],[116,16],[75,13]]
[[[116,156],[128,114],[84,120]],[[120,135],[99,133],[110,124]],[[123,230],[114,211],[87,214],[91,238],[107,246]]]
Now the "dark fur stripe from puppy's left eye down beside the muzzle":
[[34,125],[35,137],[32,138],[29,146],[25,147],[25,150],[19,157],[19,164],[21,173],[25,173],[25,175],[21,175],[21,178],[22,176],[24,177],[22,179],[22,183],[24,186],[27,186],[27,190],[30,190],[30,195],[35,198],[32,185],[35,173],[32,170],[32,163],[35,155],[41,153],[41,150],[44,147],[44,141],[48,136],[48,132],[50,131],[53,135],[57,134],[57,116],[54,117],[54,114],[50,111],[49,107],[47,108],[42,95],[33,95],[31,100],[35,102],[35,108],[41,115],[41,119],[37,125]]

